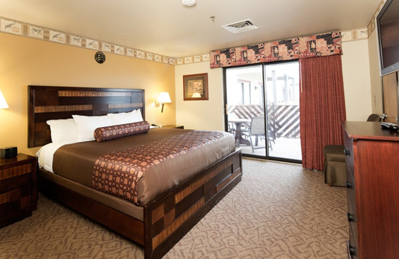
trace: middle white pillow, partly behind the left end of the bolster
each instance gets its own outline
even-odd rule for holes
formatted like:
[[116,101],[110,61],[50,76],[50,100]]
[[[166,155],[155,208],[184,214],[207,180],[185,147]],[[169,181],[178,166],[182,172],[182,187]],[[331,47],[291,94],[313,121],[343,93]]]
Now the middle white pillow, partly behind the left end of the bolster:
[[107,116],[81,116],[72,115],[78,129],[78,140],[94,140],[94,130],[101,127],[111,126],[112,123]]

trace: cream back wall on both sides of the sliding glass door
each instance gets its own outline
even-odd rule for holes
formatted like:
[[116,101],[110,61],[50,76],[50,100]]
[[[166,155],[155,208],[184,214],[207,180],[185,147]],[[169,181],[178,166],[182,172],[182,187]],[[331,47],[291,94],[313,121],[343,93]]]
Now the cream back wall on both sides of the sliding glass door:
[[[366,121],[372,113],[367,40],[343,43],[342,68],[348,121]],[[176,122],[186,129],[224,130],[223,70],[208,62],[176,66]],[[208,73],[209,101],[183,101],[183,75]]]

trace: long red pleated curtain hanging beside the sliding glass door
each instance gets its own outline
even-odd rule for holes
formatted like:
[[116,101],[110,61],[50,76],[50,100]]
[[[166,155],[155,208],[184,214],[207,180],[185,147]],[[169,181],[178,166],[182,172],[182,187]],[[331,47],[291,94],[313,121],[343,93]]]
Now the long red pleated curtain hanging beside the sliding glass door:
[[323,170],[325,145],[343,144],[346,120],[341,55],[304,58],[300,65],[302,166]]

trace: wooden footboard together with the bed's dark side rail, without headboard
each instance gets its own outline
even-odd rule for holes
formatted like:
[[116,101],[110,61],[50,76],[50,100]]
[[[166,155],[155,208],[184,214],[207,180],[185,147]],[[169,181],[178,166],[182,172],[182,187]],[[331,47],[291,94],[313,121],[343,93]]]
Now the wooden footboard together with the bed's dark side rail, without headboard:
[[241,149],[144,207],[144,222],[44,178],[39,190],[102,225],[144,245],[145,259],[162,258],[237,183]]

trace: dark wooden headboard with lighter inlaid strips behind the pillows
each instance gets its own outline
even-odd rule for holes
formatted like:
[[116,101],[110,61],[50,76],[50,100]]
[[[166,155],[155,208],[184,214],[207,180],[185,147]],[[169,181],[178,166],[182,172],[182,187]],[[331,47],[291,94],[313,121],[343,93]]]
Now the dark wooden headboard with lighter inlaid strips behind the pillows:
[[144,90],[28,86],[28,147],[51,142],[48,120],[72,115],[101,116],[140,109],[145,119]]

